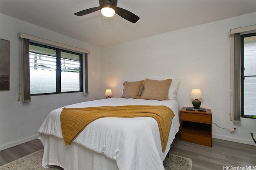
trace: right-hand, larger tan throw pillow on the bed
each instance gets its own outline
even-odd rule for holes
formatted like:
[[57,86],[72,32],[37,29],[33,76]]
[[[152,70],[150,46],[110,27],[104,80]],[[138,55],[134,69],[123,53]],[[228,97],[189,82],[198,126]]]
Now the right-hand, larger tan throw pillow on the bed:
[[146,78],[142,83],[144,93],[140,99],[168,100],[168,91],[172,79],[150,80]]

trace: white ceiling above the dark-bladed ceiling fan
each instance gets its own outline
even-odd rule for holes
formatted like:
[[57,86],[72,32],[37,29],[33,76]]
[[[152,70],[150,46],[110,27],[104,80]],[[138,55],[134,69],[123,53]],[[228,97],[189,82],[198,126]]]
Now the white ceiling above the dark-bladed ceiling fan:
[[99,47],[256,12],[256,0],[118,0],[140,20],[74,15],[96,6],[98,0],[0,0],[2,14]]

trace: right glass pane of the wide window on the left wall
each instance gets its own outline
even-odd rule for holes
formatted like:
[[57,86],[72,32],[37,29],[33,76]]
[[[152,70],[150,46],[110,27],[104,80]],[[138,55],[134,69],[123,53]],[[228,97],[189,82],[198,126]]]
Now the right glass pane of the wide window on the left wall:
[[80,90],[80,55],[61,51],[61,92]]

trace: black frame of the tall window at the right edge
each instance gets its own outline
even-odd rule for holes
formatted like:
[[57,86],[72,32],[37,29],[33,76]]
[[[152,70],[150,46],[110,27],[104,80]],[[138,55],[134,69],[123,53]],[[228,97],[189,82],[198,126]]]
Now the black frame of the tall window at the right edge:
[[244,77],[254,77],[254,76],[244,76],[244,38],[256,36],[256,33],[248,33],[240,35],[240,45],[241,45],[241,117],[253,118],[254,115],[244,115]]

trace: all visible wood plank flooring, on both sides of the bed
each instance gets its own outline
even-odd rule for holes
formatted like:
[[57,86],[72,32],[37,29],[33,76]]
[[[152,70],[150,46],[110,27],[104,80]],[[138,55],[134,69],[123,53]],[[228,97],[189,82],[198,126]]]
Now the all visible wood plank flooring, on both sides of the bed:
[[[0,165],[43,149],[35,139],[21,145],[0,151]],[[220,139],[213,139],[213,147],[180,141],[179,134],[172,143],[170,153],[192,158],[192,170],[223,170],[224,166],[256,168],[256,145],[246,145]]]

